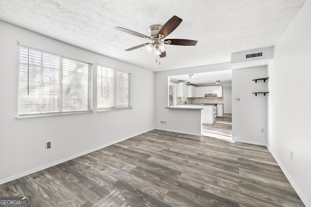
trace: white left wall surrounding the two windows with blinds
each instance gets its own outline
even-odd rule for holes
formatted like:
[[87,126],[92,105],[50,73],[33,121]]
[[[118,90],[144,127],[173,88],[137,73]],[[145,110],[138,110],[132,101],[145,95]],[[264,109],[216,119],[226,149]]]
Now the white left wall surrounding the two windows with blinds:
[[[0,184],[154,128],[153,72],[2,21],[0,28]],[[94,86],[97,63],[132,73],[133,109],[16,119],[17,41],[93,63]],[[96,107],[96,87],[93,96]]]

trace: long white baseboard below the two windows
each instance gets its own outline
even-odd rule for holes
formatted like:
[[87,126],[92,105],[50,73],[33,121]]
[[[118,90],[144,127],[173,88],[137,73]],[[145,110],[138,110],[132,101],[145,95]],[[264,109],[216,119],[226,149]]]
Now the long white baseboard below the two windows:
[[78,154],[69,156],[69,157],[67,157],[67,158],[60,159],[60,160],[51,162],[51,163],[49,163],[49,164],[46,164],[46,165],[43,165],[43,166],[40,166],[40,167],[31,169],[31,170],[29,170],[29,171],[26,171],[26,172],[23,172],[23,173],[20,173],[20,174],[17,174],[17,175],[13,175],[13,176],[4,178],[4,179],[0,180],[0,185],[2,185],[2,184],[4,184],[4,183],[7,183],[7,182],[10,182],[10,181],[12,181],[12,180],[15,180],[15,179],[17,179],[17,178],[23,177],[23,176],[33,174],[33,173],[38,172],[38,171],[40,171],[40,170],[47,169],[47,168],[52,167],[52,166],[54,166],[54,165],[57,165],[57,164],[66,162],[66,161],[68,161],[68,160],[70,160],[70,159],[78,158],[78,157],[80,157],[80,156],[83,156],[83,155],[86,155],[86,154],[88,154],[88,153],[94,152],[94,151],[96,151],[96,150],[102,149],[102,148],[104,148],[104,147],[110,146],[110,145],[112,145],[112,144],[120,143],[120,142],[122,142],[122,141],[124,141],[124,140],[127,140],[127,139],[129,139],[129,138],[138,136],[139,134],[146,133],[146,132],[151,131],[151,130],[153,130],[153,129],[155,129],[155,128],[147,129],[147,130],[145,130],[145,131],[142,131],[142,132],[139,132],[139,133],[130,135],[130,136],[128,136],[128,137],[124,137],[124,138],[122,138],[122,139],[120,139],[120,140],[117,140],[117,141],[114,141],[114,142],[111,142],[111,143],[106,143],[106,144],[104,144],[104,145],[95,147],[95,148],[93,148],[93,149],[86,150],[86,151],[84,151],[84,152],[81,152],[81,153],[78,153]]

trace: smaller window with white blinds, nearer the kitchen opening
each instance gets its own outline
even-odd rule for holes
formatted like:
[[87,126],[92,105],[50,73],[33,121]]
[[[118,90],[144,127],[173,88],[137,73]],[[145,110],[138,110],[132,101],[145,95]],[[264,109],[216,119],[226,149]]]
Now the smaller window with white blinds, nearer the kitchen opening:
[[132,74],[98,65],[97,108],[132,108]]

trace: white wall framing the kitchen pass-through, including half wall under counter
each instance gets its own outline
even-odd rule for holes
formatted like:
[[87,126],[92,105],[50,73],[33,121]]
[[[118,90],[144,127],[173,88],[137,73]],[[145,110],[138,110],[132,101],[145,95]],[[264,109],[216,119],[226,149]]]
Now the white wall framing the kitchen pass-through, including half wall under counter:
[[[168,107],[169,76],[210,72],[217,70],[229,70],[230,63],[213,64],[199,67],[169,70],[155,73],[155,128],[168,131],[176,131],[194,135],[201,135],[201,111],[198,110],[174,110]],[[166,121],[167,124],[160,124]]]

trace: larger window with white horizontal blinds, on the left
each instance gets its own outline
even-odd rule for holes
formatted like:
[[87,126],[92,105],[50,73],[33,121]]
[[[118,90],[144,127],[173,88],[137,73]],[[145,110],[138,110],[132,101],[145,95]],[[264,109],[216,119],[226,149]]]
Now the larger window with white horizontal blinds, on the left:
[[92,64],[18,48],[18,116],[91,111]]

